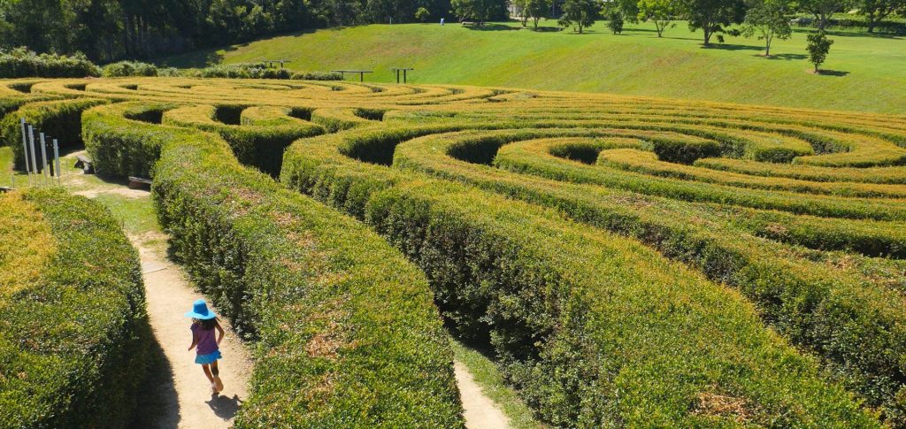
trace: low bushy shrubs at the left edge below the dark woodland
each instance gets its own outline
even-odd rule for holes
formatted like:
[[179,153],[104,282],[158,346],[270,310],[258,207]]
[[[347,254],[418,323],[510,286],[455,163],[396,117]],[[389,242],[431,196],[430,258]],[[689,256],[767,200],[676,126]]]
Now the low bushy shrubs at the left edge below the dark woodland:
[[24,47],[0,50],[0,78],[83,78],[100,76],[101,69],[82,53],[72,56],[35,53]]

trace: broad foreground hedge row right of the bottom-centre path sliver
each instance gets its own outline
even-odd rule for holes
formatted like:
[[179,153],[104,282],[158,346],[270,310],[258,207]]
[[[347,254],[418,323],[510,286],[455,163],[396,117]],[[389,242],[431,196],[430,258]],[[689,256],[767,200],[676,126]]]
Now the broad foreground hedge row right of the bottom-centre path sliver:
[[747,404],[747,424],[877,424],[735,292],[543,208],[344,160],[330,138],[287,151],[287,186],[361,210],[428,274],[460,333],[493,345],[545,421],[732,425],[733,413],[700,411],[720,396]]

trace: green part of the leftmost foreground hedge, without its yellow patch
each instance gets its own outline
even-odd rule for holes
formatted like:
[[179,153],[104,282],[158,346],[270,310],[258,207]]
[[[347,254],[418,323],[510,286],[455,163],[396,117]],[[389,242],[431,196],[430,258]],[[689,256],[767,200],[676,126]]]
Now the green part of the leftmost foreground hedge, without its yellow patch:
[[40,282],[0,303],[0,426],[124,427],[152,341],[138,253],[86,198],[33,190],[24,200],[56,251]]

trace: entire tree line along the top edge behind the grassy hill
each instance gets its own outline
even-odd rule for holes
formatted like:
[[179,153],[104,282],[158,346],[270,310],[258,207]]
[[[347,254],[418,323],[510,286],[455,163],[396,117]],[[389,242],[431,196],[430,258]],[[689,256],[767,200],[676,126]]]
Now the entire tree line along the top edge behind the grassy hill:
[[857,10],[869,33],[894,14],[906,15],[906,0],[0,0],[0,50],[83,52],[93,62],[112,62],[329,26],[444,17],[482,24],[505,19],[510,5],[523,24],[559,18],[579,33],[603,18],[614,33],[624,21],[650,21],[660,36],[685,20],[702,30],[705,44],[744,24],[733,31],[757,34],[768,49],[797,13],[814,15],[824,29],[834,13]]

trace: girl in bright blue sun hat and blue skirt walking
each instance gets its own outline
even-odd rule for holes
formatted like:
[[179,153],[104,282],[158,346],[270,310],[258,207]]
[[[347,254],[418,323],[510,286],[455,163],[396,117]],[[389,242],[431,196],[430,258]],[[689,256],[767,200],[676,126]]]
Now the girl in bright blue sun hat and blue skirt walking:
[[[224,338],[224,329],[217,322],[217,314],[214,311],[207,310],[205,300],[195,300],[192,303],[192,310],[186,313],[187,318],[192,318],[192,345],[188,347],[191,351],[196,348],[198,355],[195,357],[195,363],[201,364],[201,369],[205,371],[207,381],[211,382],[211,391],[215,394],[224,389],[224,384],[220,381],[220,371],[217,369],[217,359],[222,358],[220,355],[220,341]],[[214,330],[217,329],[217,339],[214,338]]]

